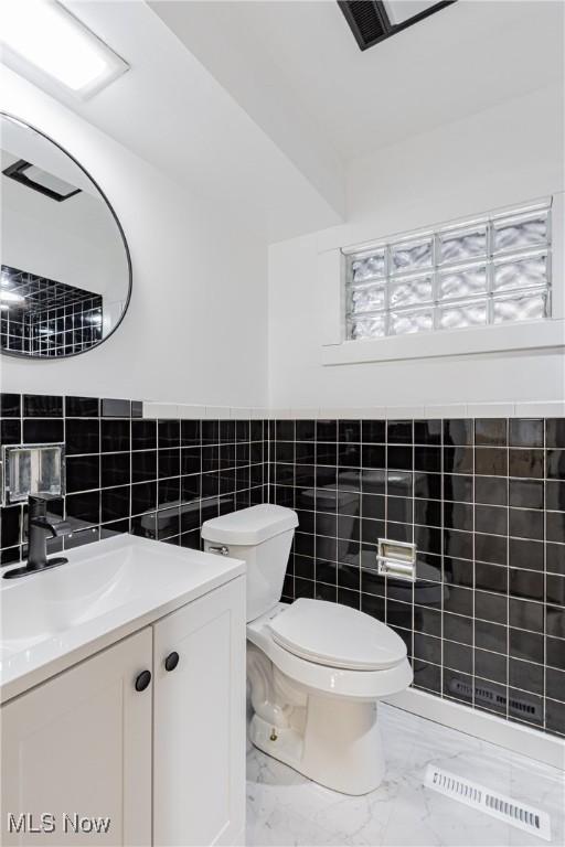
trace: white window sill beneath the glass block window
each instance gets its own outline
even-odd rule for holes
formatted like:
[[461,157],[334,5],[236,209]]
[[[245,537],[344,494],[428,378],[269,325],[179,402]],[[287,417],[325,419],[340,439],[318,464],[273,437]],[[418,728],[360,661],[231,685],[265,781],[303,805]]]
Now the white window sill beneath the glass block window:
[[440,356],[475,356],[565,346],[565,320],[343,341],[321,350],[322,365],[354,365]]

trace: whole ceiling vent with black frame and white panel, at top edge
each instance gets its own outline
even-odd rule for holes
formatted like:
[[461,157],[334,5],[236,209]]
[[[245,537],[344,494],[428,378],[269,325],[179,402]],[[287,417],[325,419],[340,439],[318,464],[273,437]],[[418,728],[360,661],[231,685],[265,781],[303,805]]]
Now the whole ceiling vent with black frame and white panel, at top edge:
[[456,0],[338,0],[361,50],[372,47]]

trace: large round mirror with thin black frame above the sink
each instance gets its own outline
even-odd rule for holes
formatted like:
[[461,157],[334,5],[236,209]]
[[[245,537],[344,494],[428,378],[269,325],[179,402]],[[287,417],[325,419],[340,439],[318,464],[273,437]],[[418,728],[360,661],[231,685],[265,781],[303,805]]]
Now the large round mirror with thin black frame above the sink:
[[96,182],[52,139],[0,116],[1,351],[74,356],[120,323],[131,291],[121,226]]

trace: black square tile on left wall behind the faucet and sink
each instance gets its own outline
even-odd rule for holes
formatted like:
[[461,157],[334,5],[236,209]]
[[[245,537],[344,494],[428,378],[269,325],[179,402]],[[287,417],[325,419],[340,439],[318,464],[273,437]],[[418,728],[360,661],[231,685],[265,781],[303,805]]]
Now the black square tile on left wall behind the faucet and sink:
[[[51,510],[74,532],[52,551],[127,532],[200,548],[203,521],[268,493],[262,420],[151,420],[128,399],[17,394],[0,395],[0,415],[2,444],[65,442],[66,496]],[[24,559],[25,507],[1,513],[1,564]]]

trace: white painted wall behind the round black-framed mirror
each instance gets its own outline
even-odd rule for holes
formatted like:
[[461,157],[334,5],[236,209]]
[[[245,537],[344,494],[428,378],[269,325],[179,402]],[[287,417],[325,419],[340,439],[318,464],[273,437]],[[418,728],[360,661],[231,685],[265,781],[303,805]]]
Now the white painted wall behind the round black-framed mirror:
[[[2,69],[0,108],[68,149],[97,180],[134,266],[126,318],[97,350],[53,363],[2,356],[2,390],[264,405],[267,253],[245,219],[202,199]],[[151,120],[151,116],[147,116]]]

